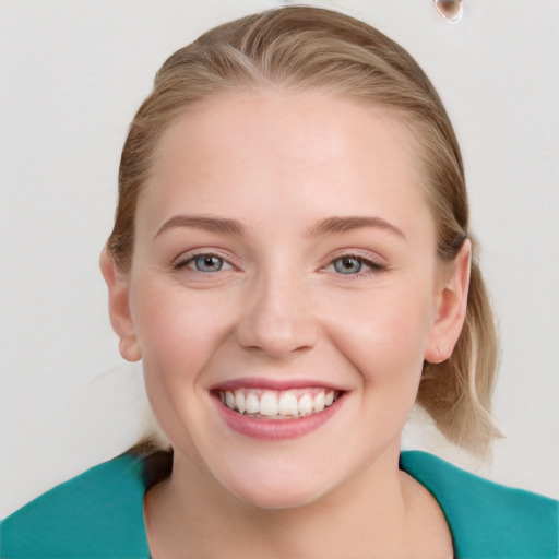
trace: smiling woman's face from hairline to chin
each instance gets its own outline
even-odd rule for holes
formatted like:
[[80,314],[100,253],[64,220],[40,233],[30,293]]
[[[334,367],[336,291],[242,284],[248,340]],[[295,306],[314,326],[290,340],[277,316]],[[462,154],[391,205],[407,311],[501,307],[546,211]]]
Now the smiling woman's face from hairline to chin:
[[320,93],[212,98],[163,138],[120,283],[176,468],[283,508],[397,456],[445,297],[414,151]]

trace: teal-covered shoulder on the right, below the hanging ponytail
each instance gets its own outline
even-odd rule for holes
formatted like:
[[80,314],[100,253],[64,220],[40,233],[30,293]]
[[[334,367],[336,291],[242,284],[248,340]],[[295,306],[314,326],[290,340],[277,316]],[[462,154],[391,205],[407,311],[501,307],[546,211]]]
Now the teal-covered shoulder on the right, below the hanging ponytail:
[[402,452],[401,467],[439,502],[457,557],[559,556],[559,502],[495,484],[427,452]]

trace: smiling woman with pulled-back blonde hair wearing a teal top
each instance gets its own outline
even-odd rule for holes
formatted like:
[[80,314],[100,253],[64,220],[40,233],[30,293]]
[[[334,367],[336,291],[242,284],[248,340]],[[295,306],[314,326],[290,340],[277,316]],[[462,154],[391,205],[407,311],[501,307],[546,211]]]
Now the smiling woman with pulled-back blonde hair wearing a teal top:
[[3,557],[557,556],[556,501],[400,450],[416,400],[473,451],[498,433],[460,150],[401,47],[310,8],[217,27],[119,180],[110,318],[171,450],[16,512]]

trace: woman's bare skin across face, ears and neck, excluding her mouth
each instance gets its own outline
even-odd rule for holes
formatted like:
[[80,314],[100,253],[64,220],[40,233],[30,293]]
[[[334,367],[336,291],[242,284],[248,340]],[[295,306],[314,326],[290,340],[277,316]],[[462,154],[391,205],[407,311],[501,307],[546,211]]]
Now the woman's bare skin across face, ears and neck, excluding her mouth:
[[[468,241],[437,259],[417,153],[396,116],[324,92],[212,97],[165,133],[130,273],[102,255],[122,356],[143,359],[175,449],[145,499],[154,557],[452,557],[440,508],[397,467],[469,281]],[[212,394],[247,378],[335,385],[342,405],[258,440]]]

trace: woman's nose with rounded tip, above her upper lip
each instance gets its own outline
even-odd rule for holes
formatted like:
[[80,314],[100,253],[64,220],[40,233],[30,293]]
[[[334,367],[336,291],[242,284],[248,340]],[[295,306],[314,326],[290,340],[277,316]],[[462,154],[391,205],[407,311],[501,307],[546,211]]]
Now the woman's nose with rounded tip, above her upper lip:
[[318,323],[301,282],[261,278],[251,287],[237,325],[241,346],[283,358],[316,345]]

